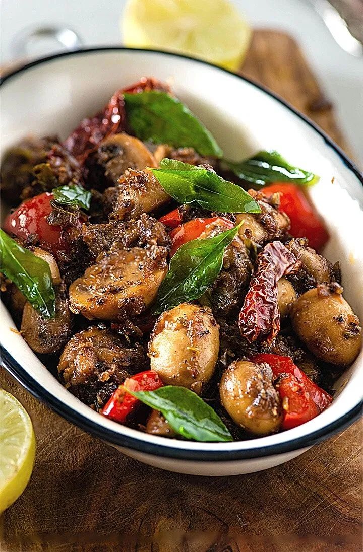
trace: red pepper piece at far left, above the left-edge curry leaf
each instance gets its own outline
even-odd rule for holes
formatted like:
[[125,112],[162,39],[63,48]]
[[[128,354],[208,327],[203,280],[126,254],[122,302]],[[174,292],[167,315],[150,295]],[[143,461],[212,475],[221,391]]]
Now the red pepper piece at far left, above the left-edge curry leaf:
[[[67,250],[66,235],[61,226],[49,224],[47,218],[51,213],[51,200],[53,194],[44,192],[24,201],[13,213],[10,213],[4,221],[4,230],[10,235],[26,240],[30,234],[36,234],[40,246],[56,254],[57,251]],[[81,228],[79,221],[78,227]]]

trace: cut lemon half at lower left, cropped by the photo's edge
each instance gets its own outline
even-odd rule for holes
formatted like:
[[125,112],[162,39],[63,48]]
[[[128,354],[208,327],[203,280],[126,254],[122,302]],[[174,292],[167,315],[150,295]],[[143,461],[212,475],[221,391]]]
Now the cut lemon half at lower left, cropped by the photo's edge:
[[34,458],[30,417],[13,395],[0,389],[0,513],[24,491]]

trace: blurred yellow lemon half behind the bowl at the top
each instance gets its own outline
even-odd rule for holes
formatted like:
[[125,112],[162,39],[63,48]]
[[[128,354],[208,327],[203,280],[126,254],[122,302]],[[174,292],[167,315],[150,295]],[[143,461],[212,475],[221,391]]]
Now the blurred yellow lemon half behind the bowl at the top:
[[126,46],[180,52],[237,70],[251,29],[228,0],[129,0]]

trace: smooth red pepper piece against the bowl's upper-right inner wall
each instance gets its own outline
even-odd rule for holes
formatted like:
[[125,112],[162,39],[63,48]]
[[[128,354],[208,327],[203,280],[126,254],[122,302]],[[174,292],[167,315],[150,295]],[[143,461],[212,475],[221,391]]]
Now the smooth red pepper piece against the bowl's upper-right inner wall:
[[276,182],[260,190],[265,195],[281,192],[280,207],[291,221],[290,233],[293,237],[307,237],[309,246],[315,250],[322,248],[329,240],[329,234],[313,205],[302,189],[296,184]]

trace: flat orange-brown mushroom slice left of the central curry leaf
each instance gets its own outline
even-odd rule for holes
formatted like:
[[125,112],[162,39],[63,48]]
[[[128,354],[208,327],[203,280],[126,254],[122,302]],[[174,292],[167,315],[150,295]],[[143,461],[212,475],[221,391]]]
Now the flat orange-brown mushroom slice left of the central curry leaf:
[[[138,315],[154,301],[167,273],[157,246],[150,250],[112,248],[70,285],[70,308],[89,320]],[[164,250],[162,250],[164,253]]]

